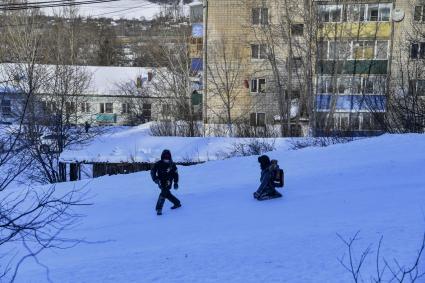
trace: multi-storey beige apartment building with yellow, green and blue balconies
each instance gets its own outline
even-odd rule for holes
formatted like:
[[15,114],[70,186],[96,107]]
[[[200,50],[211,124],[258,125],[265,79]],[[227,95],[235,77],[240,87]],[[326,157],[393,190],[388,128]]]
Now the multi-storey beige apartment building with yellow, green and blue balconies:
[[372,135],[400,92],[424,95],[422,0],[205,3],[209,123],[230,113],[291,135]]

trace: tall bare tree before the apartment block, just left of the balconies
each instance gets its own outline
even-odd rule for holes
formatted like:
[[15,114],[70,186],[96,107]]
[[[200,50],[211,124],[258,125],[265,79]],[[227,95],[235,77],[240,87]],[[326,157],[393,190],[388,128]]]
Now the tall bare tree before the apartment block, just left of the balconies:
[[[270,1],[252,7],[248,24],[253,38],[254,58],[264,60],[258,68],[269,73],[270,92],[277,105],[281,136],[301,134],[301,121],[312,116],[315,25],[311,24],[311,3]],[[258,17],[260,15],[260,17]],[[258,47],[257,47],[258,46]],[[256,56],[257,50],[259,55]],[[257,64],[258,66],[258,64]]]

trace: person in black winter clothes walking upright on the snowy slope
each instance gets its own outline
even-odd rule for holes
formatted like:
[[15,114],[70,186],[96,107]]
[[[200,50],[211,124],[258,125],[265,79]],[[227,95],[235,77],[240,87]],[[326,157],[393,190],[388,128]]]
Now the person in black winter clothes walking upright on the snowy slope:
[[162,215],[162,207],[166,199],[173,203],[171,209],[181,207],[180,201],[170,192],[173,182],[174,189],[178,189],[179,174],[177,172],[177,166],[171,158],[171,152],[168,149],[162,152],[161,160],[154,164],[151,170],[151,176],[152,180],[161,189],[158,202],[156,203],[156,214]]

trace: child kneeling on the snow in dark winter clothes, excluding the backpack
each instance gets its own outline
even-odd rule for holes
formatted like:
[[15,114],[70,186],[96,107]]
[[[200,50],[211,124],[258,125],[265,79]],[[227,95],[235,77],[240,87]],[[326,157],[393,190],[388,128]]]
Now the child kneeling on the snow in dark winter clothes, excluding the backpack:
[[272,198],[279,198],[282,195],[276,191],[273,177],[276,170],[279,170],[277,163],[272,163],[267,155],[258,157],[258,162],[261,167],[260,186],[254,193],[254,198],[257,200],[266,200]]

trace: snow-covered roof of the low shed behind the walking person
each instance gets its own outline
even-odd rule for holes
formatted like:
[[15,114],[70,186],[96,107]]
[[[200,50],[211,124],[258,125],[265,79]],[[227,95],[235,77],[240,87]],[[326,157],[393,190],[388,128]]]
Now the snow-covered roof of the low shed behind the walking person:
[[[175,162],[202,162],[222,159],[233,144],[247,141],[225,137],[156,137],[150,135],[150,123],[137,127],[116,127],[91,144],[67,150],[63,162],[148,162],[159,159],[164,149],[172,152]],[[276,148],[288,148],[287,139],[273,140]]]

